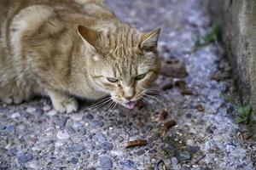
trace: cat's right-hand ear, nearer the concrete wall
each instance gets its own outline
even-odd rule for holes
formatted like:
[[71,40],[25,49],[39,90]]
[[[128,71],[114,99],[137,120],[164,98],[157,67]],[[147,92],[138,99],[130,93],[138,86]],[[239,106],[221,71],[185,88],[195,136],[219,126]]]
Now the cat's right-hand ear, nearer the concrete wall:
[[140,48],[148,52],[156,51],[159,35],[160,35],[160,28],[154,31],[143,33]]

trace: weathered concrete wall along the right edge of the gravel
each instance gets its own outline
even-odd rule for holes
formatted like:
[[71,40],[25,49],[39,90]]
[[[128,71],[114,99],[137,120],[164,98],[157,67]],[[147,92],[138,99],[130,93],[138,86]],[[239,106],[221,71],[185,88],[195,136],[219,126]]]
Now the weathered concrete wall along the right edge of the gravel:
[[244,101],[250,101],[256,120],[256,0],[203,0],[203,3],[207,3],[213,20],[222,28],[239,94]]

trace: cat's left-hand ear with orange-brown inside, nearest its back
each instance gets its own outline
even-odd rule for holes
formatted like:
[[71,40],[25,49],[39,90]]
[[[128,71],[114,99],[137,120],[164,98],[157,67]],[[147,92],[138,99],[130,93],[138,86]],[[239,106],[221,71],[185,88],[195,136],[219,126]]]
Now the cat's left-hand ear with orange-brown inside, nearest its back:
[[95,31],[87,26],[78,26],[79,36],[83,41],[90,45],[91,48],[96,49],[96,42],[101,37],[99,31]]

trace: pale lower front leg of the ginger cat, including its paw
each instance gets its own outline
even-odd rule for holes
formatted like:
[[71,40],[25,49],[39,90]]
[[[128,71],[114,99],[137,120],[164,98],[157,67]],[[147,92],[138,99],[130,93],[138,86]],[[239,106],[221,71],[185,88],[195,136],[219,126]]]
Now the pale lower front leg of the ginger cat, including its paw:
[[55,90],[46,90],[46,93],[49,95],[55,110],[61,113],[78,111],[79,103],[73,97]]

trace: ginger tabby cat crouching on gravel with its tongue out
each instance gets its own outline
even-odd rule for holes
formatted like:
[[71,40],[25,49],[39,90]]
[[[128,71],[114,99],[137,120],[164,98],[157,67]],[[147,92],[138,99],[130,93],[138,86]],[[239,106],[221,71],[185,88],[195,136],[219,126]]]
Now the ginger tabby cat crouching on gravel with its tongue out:
[[160,29],[120,22],[101,0],[2,0],[0,100],[49,96],[55,110],[110,96],[133,109],[160,71]]

